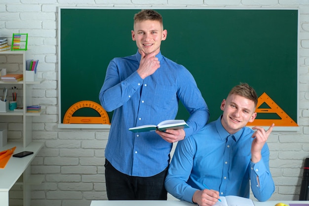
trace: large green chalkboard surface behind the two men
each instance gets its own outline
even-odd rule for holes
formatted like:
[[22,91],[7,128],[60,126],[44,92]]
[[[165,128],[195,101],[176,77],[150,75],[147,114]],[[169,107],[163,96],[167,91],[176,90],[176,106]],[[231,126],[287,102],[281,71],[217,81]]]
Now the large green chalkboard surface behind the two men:
[[[161,53],[191,71],[208,104],[211,121],[222,113],[220,103],[230,89],[246,82],[258,95],[266,92],[297,122],[298,10],[156,10],[167,30]],[[74,103],[99,103],[106,68],[114,57],[135,54],[131,30],[133,16],[139,11],[60,9],[61,123]],[[91,110],[79,109],[74,115],[96,116]],[[180,104],[177,118],[186,120],[188,116]]]

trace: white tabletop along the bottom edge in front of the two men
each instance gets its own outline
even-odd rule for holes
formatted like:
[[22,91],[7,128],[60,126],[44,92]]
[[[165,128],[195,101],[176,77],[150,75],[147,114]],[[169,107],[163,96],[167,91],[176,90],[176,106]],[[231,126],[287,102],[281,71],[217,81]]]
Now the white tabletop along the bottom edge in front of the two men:
[[[289,204],[304,204],[303,206],[309,206],[309,201],[267,201],[267,202],[257,202],[253,201],[255,206],[275,206],[277,203]],[[308,205],[305,205],[308,204]],[[137,200],[137,201],[108,201],[108,200],[97,200],[91,201],[90,206],[196,206],[191,203],[184,201],[147,201],[147,200]]]

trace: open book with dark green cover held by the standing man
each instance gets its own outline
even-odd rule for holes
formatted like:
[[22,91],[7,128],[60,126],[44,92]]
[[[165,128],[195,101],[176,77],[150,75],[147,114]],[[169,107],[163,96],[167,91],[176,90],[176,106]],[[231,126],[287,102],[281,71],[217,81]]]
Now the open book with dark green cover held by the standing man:
[[168,129],[178,130],[188,128],[189,125],[184,120],[165,120],[160,122],[158,125],[143,125],[138,127],[129,128],[132,132],[149,132],[149,131],[165,131]]

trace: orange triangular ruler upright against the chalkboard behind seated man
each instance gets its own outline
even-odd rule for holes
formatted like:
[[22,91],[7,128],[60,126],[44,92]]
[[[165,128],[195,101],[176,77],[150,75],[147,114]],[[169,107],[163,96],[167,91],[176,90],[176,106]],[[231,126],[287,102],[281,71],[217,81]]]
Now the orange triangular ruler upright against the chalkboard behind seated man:
[[[267,104],[268,108],[260,108],[262,104]],[[257,117],[259,113],[276,114],[277,119],[255,119],[253,122],[248,122],[247,126],[270,126],[274,123],[274,126],[288,126],[296,127],[298,124],[285,113],[265,92],[259,97],[257,108]]]

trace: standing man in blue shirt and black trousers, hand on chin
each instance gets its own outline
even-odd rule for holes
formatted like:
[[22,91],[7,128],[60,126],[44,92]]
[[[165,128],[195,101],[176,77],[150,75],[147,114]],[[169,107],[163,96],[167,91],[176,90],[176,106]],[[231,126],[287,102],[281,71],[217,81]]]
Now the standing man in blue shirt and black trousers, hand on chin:
[[[109,200],[166,200],[164,188],[172,142],[189,137],[209,119],[208,107],[192,74],[160,52],[166,39],[160,14],[142,10],[134,16],[136,54],[114,58],[99,94],[113,111],[105,150]],[[179,100],[190,113],[190,128],[132,133],[131,127],[175,119]]]

